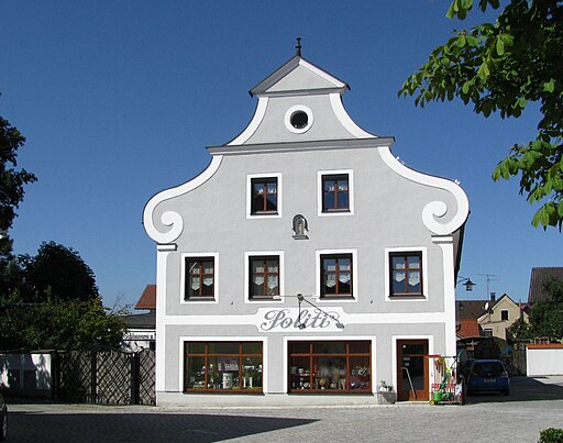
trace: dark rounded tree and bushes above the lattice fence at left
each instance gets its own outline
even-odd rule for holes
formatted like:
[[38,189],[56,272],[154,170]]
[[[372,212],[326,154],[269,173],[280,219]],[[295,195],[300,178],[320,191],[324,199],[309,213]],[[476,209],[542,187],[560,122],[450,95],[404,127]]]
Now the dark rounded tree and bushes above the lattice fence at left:
[[35,256],[0,258],[0,351],[117,346],[123,314],[102,306],[90,267],[54,242]]

